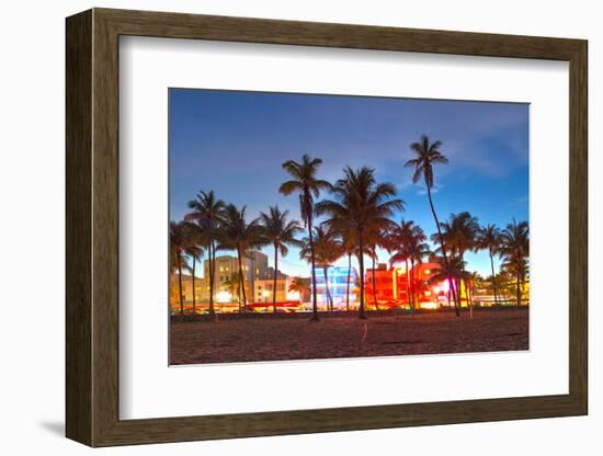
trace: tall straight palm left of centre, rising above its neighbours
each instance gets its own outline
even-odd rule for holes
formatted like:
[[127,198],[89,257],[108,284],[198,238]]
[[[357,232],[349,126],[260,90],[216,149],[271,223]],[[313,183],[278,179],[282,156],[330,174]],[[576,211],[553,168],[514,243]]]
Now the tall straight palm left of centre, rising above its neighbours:
[[302,162],[287,160],[282,166],[283,169],[293,178],[284,182],[278,192],[285,196],[293,193],[299,193],[299,210],[304,219],[304,226],[308,229],[308,239],[310,247],[310,262],[312,273],[312,321],[318,321],[318,307],[316,305],[316,260],[314,255],[312,220],[314,220],[314,201],[320,196],[321,191],[330,190],[332,185],[317,178],[318,169],[322,164],[319,158],[312,159],[305,153]]

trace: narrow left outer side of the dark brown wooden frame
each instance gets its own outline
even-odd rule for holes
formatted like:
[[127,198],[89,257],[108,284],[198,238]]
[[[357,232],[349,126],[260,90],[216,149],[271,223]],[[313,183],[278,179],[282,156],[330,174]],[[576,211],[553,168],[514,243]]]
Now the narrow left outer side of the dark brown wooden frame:
[[92,443],[92,13],[67,22],[66,435]]

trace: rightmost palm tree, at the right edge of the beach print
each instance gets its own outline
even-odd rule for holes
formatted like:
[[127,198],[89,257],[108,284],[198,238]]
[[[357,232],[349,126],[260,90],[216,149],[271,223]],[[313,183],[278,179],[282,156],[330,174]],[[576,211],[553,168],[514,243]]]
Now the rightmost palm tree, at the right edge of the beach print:
[[507,225],[500,235],[499,251],[503,258],[503,267],[515,275],[516,306],[521,307],[521,285],[527,273],[530,254],[530,227],[527,221],[513,221]]

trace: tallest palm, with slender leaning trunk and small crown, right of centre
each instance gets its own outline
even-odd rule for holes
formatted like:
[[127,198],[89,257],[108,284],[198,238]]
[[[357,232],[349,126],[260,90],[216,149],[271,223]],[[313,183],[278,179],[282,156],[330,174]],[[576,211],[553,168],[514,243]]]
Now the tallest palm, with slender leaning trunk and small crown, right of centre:
[[[421,135],[420,141],[412,142],[410,145],[410,150],[412,150],[417,155],[417,157],[411,160],[408,160],[405,163],[405,167],[414,168],[414,174],[412,175],[412,183],[419,182],[421,176],[425,182],[431,213],[433,215],[433,219],[435,220],[435,227],[437,228],[437,232],[440,235],[440,246],[442,247],[444,263],[445,263],[446,270],[450,270],[448,255],[446,253],[444,238],[442,237],[442,232],[440,230],[440,221],[437,220],[437,215],[435,214],[435,208],[433,207],[433,200],[431,197],[431,189],[433,187],[433,166],[436,163],[441,163],[441,164],[448,163],[448,159],[446,158],[446,156],[440,151],[440,147],[442,147],[442,145],[443,142],[441,140],[430,142],[430,139],[426,135]],[[450,275],[451,276],[448,277],[448,280],[452,284],[452,274]],[[454,287],[453,287],[453,296],[455,300],[455,312],[456,312],[456,316],[459,317],[460,312],[458,311],[458,307],[456,305],[457,297],[456,297],[456,292],[454,290]]]

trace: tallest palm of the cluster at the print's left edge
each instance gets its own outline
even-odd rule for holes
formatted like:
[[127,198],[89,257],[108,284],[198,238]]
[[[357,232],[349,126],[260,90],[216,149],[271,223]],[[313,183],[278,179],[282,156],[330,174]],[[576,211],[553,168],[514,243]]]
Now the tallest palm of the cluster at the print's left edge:
[[208,193],[201,191],[196,194],[195,200],[189,202],[189,208],[191,212],[184,216],[184,219],[195,221],[201,227],[206,243],[209,261],[209,315],[215,317],[214,285],[216,276],[217,226],[225,204],[221,200],[216,198],[213,190]]

